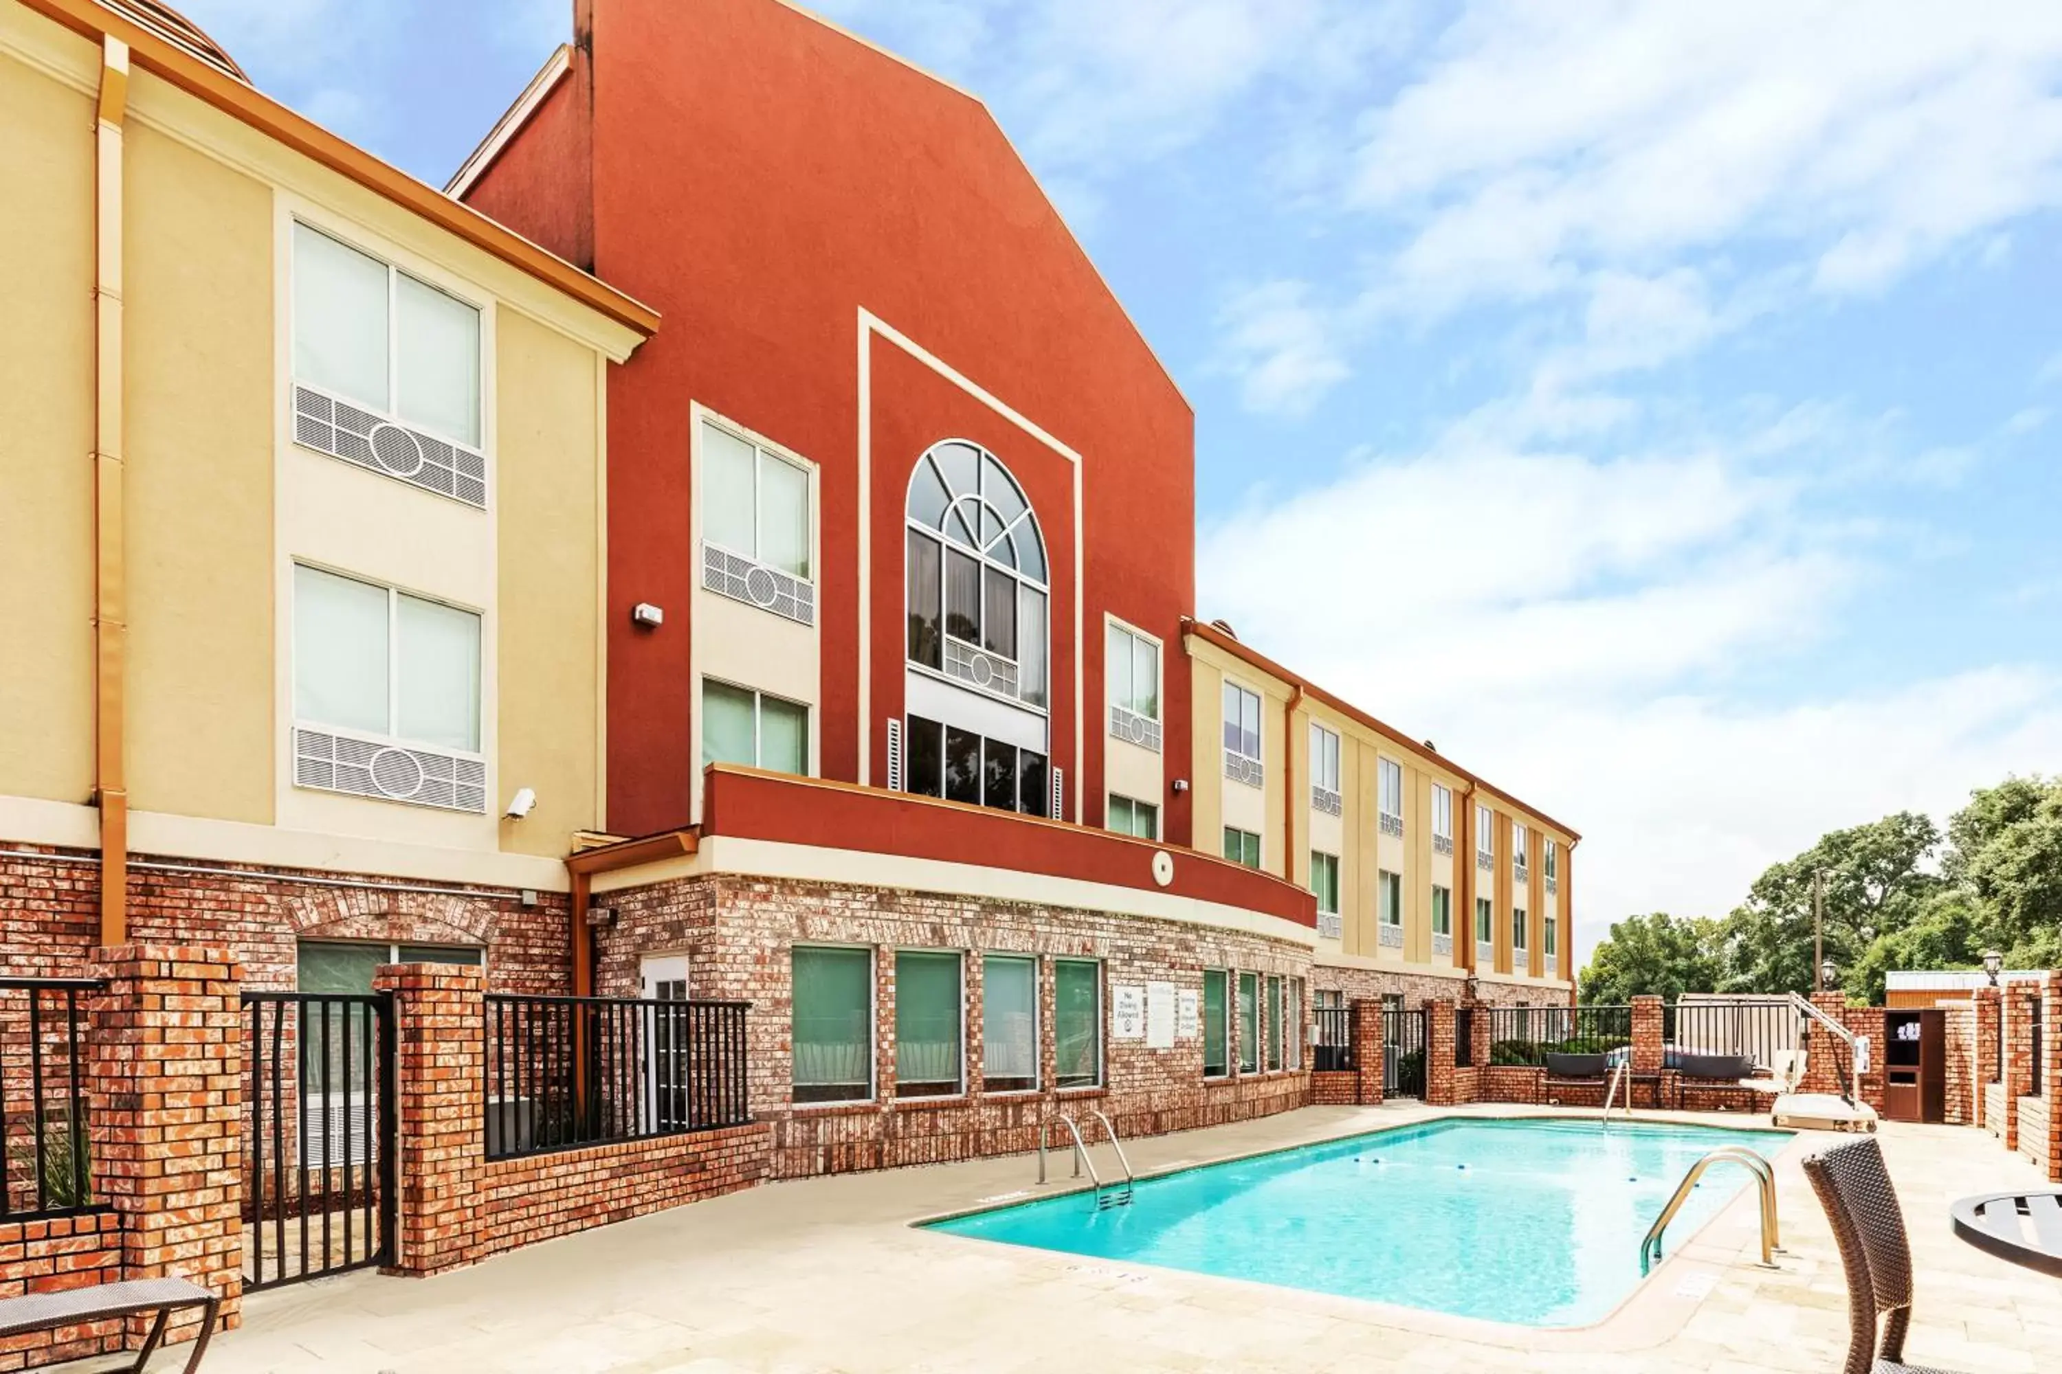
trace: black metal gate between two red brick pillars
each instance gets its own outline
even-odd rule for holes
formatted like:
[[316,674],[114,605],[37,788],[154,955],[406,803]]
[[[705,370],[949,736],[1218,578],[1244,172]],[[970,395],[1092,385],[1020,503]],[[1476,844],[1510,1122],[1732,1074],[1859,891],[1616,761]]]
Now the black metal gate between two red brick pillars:
[[394,1003],[243,993],[243,1287],[394,1255]]

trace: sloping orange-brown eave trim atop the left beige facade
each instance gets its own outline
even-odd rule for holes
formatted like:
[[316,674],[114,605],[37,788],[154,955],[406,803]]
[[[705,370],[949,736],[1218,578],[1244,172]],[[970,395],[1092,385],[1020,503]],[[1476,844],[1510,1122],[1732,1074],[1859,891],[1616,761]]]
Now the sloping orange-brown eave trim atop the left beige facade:
[[629,297],[600,278],[594,278],[573,264],[530,243],[505,225],[487,218],[437,192],[408,173],[379,161],[365,148],[338,138],[320,124],[297,115],[256,87],[237,80],[223,68],[194,56],[186,47],[169,41],[155,29],[146,29],[120,10],[111,10],[99,0],[21,0],[29,10],[64,25],[93,41],[105,37],[120,39],[130,47],[130,62],[153,76],[159,76],[188,95],[221,109],[260,134],[278,140],[295,152],[328,167],[330,171],[357,181],[365,190],[381,196],[404,210],[412,210],[425,220],[445,229],[466,243],[499,257],[518,272],[534,276],[617,323],[652,336],[658,332],[658,311]]

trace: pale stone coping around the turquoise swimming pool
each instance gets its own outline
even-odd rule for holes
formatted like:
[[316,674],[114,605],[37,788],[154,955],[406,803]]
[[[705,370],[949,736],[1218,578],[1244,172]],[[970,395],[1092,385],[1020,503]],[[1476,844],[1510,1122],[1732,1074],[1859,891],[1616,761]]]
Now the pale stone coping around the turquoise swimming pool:
[[[1491,1106],[1491,1104],[1483,1104]],[[1149,1182],[1155,1178],[1167,1178],[1173,1174],[1188,1174],[1194,1170],[1217,1168],[1221,1164],[1241,1164],[1248,1160],[1264,1160],[1268,1156],[1293,1154],[1297,1149],[1311,1149],[1318,1145],[1330,1145],[1355,1137],[1379,1137],[1396,1131],[1417,1131],[1423,1127],[1433,1127],[1441,1123],[1476,1123],[1476,1121],[1596,1121],[1596,1117],[1586,1108],[1555,1108],[1555,1106],[1528,1106],[1528,1104],[1493,1104],[1497,1110],[1468,1110],[1468,1104],[1458,1108],[1427,1108],[1431,1114],[1419,1117],[1415,1121],[1398,1121],[1388,1127],[1346,1127],[1328,1135],[1320,1135],[1293,1145],[1268,1145],[1264,1149],[1233,1149],[1217,1156],[1206,1156],[1198,1160],[1182,1160],[1175,1164],[1163,1164],[1159,1168],[1146,1168],[1134,1172],[1136,1182]],[[1726,1114],[1730,1117],[1730,1112]],[[1788,1133],[1786,1141],[1771,1156],[1769,1168],[1782,1174],[1786,1166],[1790,1170],[1798,1168],[1798,1160],[1812,1137],[1827,1137],[1825,1131],[1798,1131],[1794,1127],[1775,1127],[1763,1123],[1757,1117],[1742,1121],[1726,1121],[1718,1112],[1639,1112],[1631,1119],[1633,1125],[1693,1125],[1714,1131],[1736,1131],[1736,1133]],[[1751,1125],[1753,1123],[1753,1125]],[[1833,1137],[1837,1139],[1837,1137]],[[1109,1187],[1107,1182],[1103,1187]],[[1045,1189],[1021,1189],[1015,1193],[1004,1193],[977,1201],[971,1207],[953,1207],[949,1211],[924,1213],[920,1217],[907,1220],[903,1226],[909,1230],[930,1230],[942,1222],[955,1222],[961,1217],[982,1215],[988,1211],[1004,1211],[1008,1207],[1021,1207],[1035,1201],[1052,1201],[1062,1197],[1074,1197],[1080,1193],[1093,1193],[1095,1184],[1089,1180],[1068,1178],[1064,1184],[1047,1184]],[[951,1240],[982,1240],[977,1236],[955,1236],[953,1232],[936,1232],[940,1238]],[[1664,1252],[1660,1263],[1641,1277],[1631,1292],[1625,1294],[1604,1316],[1582,1327],[1526,1327],[1520,1323],[1499,1323],[1485,1316],[1462,1316],[1458,1312],[1439,1312],[1435,1308],[1415,1308],[1398,1302],[1382,1302],[1379,1298],[1351,1298],[1344,1294],[1326,1294],[1320,1290],[1291,1287],[1283,1283],[1266,1283],[1260,1279],[1241,1279],[1233,1275],[1204,1273],[1198,1269],[1175,1269],[1169,1265],[1153,1265],[1144,1261],[1130,1259],[1105,1259],[1097,1255],[1078,1255],[1072,1250],[1054,1250],[1045,1246],[1015,1246],[1010,1242],[988,1240],[986,1244],[1008,1246],[1015,1250],[1025,1250],[1031,1255],[1045,1255],[1056,1259],[1076,1261],[1076,1267],[1099,1269],[1118,1275],[1179,1275],[1182,1279],[1192,1279],[1204,1285],[1229,1283],[1239,1290],[1252,1290],[1256,1294],[1268,1294],[1274,1306],[1287,1300],[1295,1304],[1309,1304],[1318,1310],[1330,1310],[1334,1314],[1377,1318],[1384,1327],[1394,1327],[1400,1331],[1415,1331],[1423,1335],[1476,1341],[1483,1345],[1499,1345],[1505,1349],[1536,1349],[1536,1351],[1559,1351],[1559,1353],[1623,1353],[1637,1351],[1660,1345],[1662,1341],[1678,1335],[1695,1316],[1697,1308],[1703,1306],[1716,1292],[1718,1283],[1728,1269],[1736,1265],[1751,1265],[1761,1271],[1761,1213],[1759,1201],[1753,1187],[1742,1189],[1724,1207],[1705,1217],[1695,1230],[1683,1232]],[[1777,1250],[1777,1269],[1782,1267],[1784,1252]],[[1767,1271],[1761,1271],[1767,1273]],[[1664,1279],[1672,1277],[1674,1283],[1668,1285]],[[1703,1279],[1699,1283],[1699,1279]]]

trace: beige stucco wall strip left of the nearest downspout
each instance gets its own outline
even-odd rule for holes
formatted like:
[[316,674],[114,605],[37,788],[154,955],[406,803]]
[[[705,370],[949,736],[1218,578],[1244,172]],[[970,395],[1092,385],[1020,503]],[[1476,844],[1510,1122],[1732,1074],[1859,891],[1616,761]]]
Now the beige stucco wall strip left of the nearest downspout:
[[0,793],[76,803],[93,789],[93,101],[0,56]]

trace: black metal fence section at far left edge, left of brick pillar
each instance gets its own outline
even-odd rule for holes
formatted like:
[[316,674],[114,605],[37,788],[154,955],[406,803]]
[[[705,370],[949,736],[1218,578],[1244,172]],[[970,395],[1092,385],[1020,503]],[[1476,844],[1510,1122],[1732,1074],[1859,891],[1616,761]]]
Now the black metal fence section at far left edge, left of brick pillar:
[[89,1211],[91,978],[0,978],[0,1217]]

